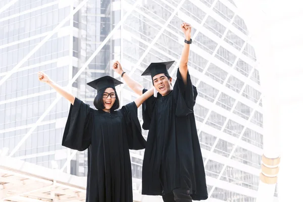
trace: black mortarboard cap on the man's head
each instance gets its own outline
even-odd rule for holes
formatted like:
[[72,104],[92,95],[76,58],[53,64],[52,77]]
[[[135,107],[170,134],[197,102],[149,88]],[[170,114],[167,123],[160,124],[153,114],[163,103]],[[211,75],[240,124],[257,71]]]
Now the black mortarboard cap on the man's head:
[[150,75],[153,79],[157,74],[168,74],[169,68],[174,64],[175,61],[162,62],[162,63],[150,63],[141,76]]

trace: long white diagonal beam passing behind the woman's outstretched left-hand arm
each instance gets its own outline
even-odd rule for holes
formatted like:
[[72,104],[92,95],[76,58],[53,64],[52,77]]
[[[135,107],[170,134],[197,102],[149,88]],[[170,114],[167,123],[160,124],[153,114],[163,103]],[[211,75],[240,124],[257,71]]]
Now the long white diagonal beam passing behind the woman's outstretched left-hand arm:
[[[88,0],[85,0],[88,1]],[[120,28],[122,23],[126,20],[126,18],[132,13],[134,8],[139,4],[141,0],[137,0],[136,3],[133,5],[132,9],[128,11],[128,13],[123,17],[123,19],[115,26],[115,28],[109,33],[109,35],[105,38],[105,40],[99,45],[99,47],[96,49],[96,51],[89,57],[89,59],[86,61],[86,63],[81,67],[81,69],[77,72],[77,74],[69,81],[66,88],[70,87],[75,80],[80,76],[80,74],[85,70],[85,68],[89,65],[89,63],[94,59],[94,57],[98,54],[98,52],[104,47],[104,45],[109,41],[109,39],[117,32],[117,30]],[[80,6],[80,5],[79,5]],[[31,127],[31,129],[24,135],[24,137],[20,140],[20,142],[17,144],[17,146],[12,150],[11,154],[9,155],[12,157],[16,151],[20,148],[20,146],[24,143],[24,141],[31,135],[31,133],[36,129],[36,127],[39,125],[39,123],[45,118],[45,116],[53,109],[53,107],[58,103],[61,96],[58,96],[53,103],[45,110],[45,112],[41,115],[41,117],[36,121],[35,125]],[[72,158],[72,156],[71,156]],[[67,163],[66,163],[67,164]]]

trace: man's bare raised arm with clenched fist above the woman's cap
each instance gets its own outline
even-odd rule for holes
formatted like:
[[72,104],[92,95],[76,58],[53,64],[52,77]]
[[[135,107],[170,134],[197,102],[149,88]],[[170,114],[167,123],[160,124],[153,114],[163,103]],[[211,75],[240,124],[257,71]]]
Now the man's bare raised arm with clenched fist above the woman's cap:
[[136,94],[142,95],[143,86],[134,79],[130,78],[127,73],[123,71],[122,66],[118,61],[114,62],[113,69],[115,72],[122,76],[123,80],[128,85],[128,87],[130,87],[130,89],[132,89]]

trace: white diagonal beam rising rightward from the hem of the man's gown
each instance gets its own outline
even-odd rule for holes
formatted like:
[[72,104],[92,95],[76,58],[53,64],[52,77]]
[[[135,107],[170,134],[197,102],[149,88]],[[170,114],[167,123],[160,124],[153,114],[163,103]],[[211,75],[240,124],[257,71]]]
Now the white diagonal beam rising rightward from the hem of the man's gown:
[[[263,94],[260,95],[260,98],[259,98],[259,100],[258,100],[258,102],[257,102],[257,104],[256,104],[256,106],[255,106],[255,108],[252,110],[252,112],[251,112],[251,114],[250,114],[248,120],[246,121],[246,124],[245,124],[244,128],[242,129],[241,134],[240,134],[240,136],[238,137],[236,144],[233,146],[233,148],[232,148],[232,150],[231,150],[231,153],[230,153],[229,156],[228,156],[228,159],[225,161],[224,166],[223,166],[223,168],[222,168],[222,170],[221,170],[219,176],[217,177],[217,180],[216,180],[217,182],[216,182],[216,183],[219,183],[219,180],[220,180],[221,176],[223,175],[223,173],[224,173],[224,171],[225,171],[225,169],[226,169],[226,167],[227,167],[227,163],[230,161],[230,159],[231,159],[231,157],[233,156],[233,154],[234,154],[234,152],[235,152],[237,146],[239,145],[239,143],[240,143],[240,141],[241,141],[241,138],[242,138],[242,136],[243,136],[243,134],[244,134],[244,132],[245,132],[245,130],[246,130],[246,128],[247,128],[248,123],[250,122],[250,120],[252,119],[252,117],[254,117],[254,114],[255,114],[255,112],[256,112],[257,107],[259,106],[259,104],[260,104],[260,102],[261,102],[262,97],[263,97]],[[212,194],[213,194],[215,188],[216,188],[216,184],[212,187],[212,189],[211,189],[211,191],[210,191],[210,193],[209,193],[209,197],[212,196]]]

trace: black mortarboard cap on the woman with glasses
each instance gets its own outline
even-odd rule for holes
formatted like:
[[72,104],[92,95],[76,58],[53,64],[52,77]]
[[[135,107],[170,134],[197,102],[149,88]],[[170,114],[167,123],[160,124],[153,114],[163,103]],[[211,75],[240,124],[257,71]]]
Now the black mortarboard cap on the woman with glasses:
[[111,77],[111,76],[104,76],[101,78],[98,78],[96,80],[93,80],[89,83],[87,83],[87,85],[93,87],[94,89],[97,90],[97,92],[99,92],[100,89],[102,88],[115,88],[115,86],[122,84],[121,81]]

